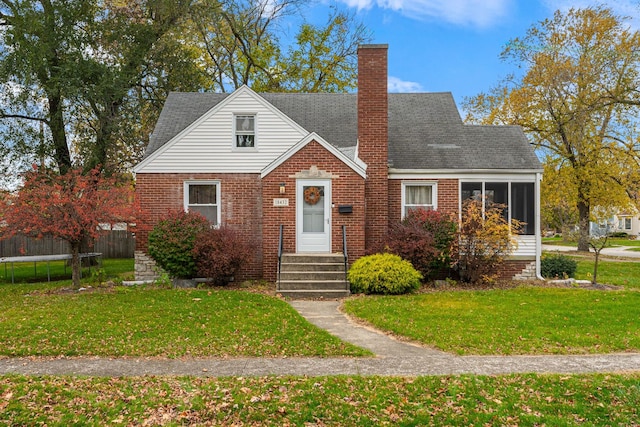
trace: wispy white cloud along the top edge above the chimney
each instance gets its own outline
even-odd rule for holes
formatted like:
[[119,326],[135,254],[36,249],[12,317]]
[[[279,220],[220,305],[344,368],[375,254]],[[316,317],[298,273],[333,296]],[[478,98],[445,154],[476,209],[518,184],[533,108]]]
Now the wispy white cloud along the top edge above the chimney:
[[487,27],[504,17],[512,0],[341,0],[358,10],[377,6],[417,20],[442,19]]

